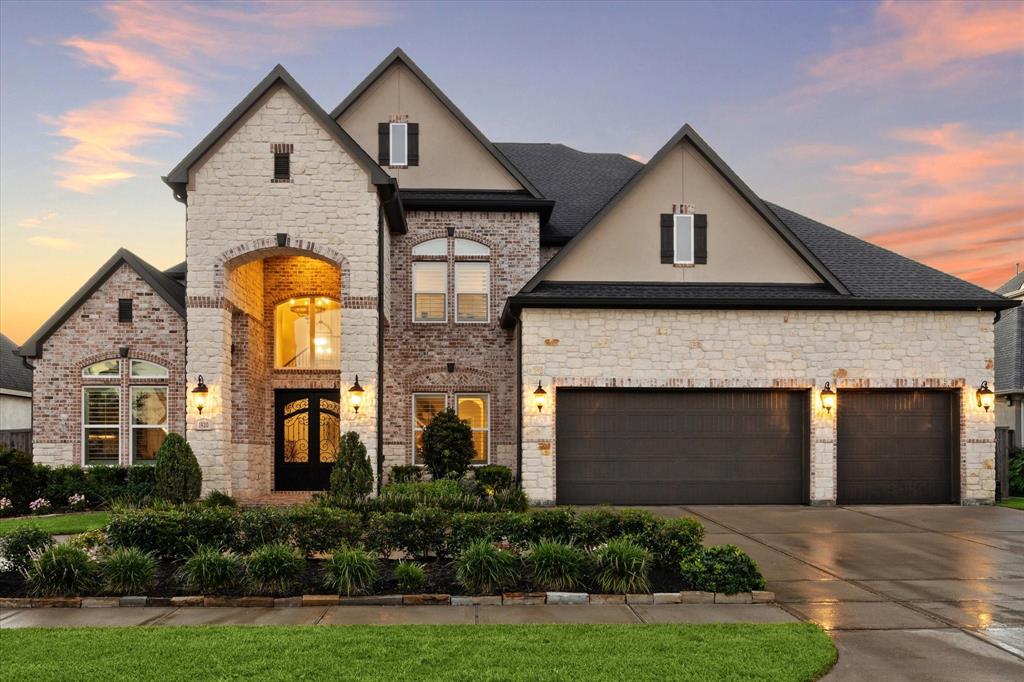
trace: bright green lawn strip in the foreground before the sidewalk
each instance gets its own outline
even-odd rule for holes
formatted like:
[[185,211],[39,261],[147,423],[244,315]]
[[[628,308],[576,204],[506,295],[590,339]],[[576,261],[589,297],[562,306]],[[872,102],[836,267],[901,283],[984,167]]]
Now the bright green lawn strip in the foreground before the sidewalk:
[[30,629],[5,630],[0,646],[7,682],[797,681],[835,660],[809,624]]

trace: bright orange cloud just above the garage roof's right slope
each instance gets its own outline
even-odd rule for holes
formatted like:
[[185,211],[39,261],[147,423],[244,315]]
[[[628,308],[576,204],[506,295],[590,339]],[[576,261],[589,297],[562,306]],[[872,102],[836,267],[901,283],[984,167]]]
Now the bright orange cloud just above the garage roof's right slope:
[[1024,135],[963,124],[900,130],[911,151],[851,164],[863,204],[840,218],[872,242],[987,288],[1024,259]]

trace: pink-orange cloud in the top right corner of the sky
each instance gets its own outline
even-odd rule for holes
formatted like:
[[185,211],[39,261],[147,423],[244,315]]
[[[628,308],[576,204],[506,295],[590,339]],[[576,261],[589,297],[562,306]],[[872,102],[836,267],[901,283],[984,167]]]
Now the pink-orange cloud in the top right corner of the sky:
[[888,0],[876,10],[866,42],[812,63],[814,83],[801,93],[835,92],[906,76],[926,84],[948,84],[975,74],[986,59],[1024,53],[1024,4]]

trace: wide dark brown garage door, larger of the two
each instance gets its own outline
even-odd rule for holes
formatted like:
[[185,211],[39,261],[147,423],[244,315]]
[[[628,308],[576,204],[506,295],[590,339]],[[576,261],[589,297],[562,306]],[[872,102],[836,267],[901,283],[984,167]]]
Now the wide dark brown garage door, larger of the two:
[[800,504],[806,391],[559,389],[559,504]]

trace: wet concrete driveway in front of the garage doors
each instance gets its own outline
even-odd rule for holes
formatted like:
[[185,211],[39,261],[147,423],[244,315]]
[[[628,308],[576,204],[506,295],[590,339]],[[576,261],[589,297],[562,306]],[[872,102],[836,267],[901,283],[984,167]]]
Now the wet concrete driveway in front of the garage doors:
[[1024,679],[1024,512],[999,507],[684,507],[830,631],[839,680]]

